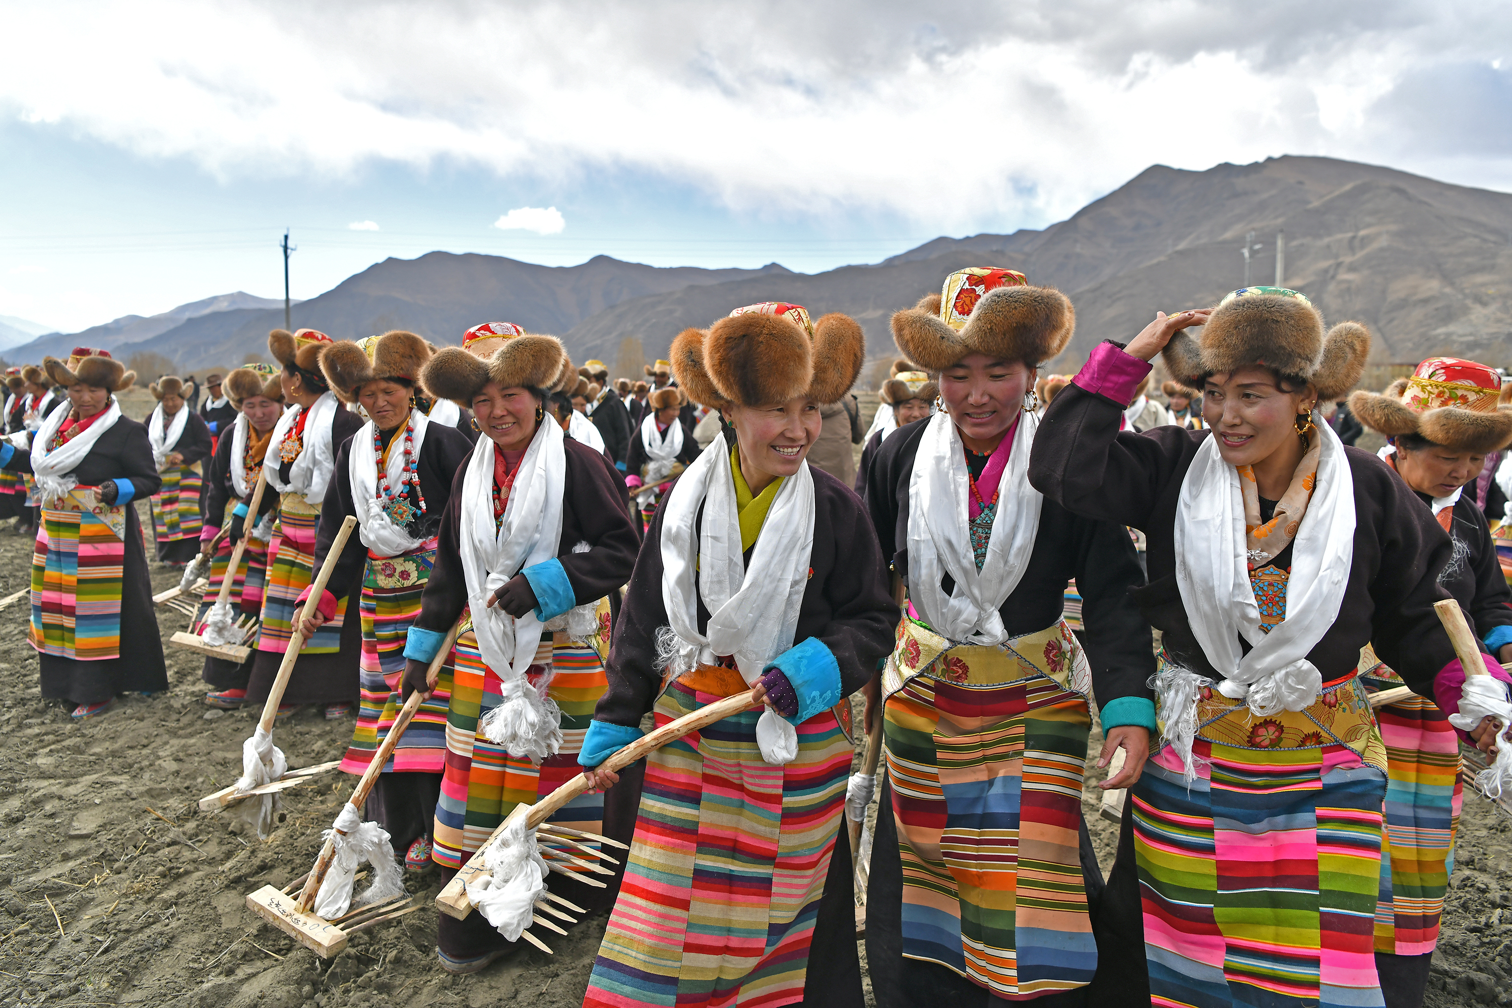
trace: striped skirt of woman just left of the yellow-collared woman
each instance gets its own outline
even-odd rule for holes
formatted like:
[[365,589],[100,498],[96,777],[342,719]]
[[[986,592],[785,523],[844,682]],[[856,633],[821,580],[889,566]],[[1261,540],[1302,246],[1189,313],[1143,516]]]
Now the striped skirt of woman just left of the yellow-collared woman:
[[[603,662],[591,644],[573,644],[565,633],[541,638],[532,683],[552,673],[547,694],[561,707],[562,745],[540,766],[517,759],[478,733],[478,722],[499,706],[499,677],[484,665],[478,638],[467,630],[457,638],[442,682],[451,679],[446,712],[446,771],[435,804],[431,857],[445,867],[461,867],[520,802],[535,802],[582,772],[578,754],[593,721],[593,709],[608,689]],[[602,833],[603,795],[579,795],[550,818],[575,830]]]

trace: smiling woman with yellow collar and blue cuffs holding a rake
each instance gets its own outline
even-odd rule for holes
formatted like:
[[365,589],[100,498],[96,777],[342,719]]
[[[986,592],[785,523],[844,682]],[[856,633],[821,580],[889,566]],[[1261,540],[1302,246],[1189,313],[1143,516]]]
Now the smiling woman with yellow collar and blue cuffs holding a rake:
[[632,742],[647,712],[661,725],[753,686],[773,709],[650,756],[584,1005],[862,1003],[839,828],[847,697],[888,653],[898,608],[854,491],[806,455],[863,355],[851,319],[810,326],[789,304],[673,342],[677,381],[730,426],[646,533],[579,762]]

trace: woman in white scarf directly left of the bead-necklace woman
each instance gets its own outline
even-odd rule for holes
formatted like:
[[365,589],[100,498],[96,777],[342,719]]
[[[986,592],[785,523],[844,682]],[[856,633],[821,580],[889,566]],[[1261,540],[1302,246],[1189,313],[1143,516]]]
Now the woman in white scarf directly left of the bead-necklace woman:
[[[289,410],[274,428],[274,462],[268,472],[263,508],[277,508],[274,538],[268,544],[268,588],[263,594],[263,624],[257,656],[246,688],[251,703],[263,703],[278,674],[284,650],[295,636],[299,594],[314,580],[314,549],[321,530],[321,505],[336,479],[336,450],[363,425],[342,405],[321,373],[321,354],[331,337],[314,329],[290,335],[268,334],[268,349],[283,366],[278,381]],[[272,503],[269,503],[269,497]],[[361,621],[348,620],[357,606],[358,585],[336,603],[336,611],[311,638],[299,636],[299,660],[289,677],[281,712],[301,704],[321,704],[330,719],[345,718],[357,700],[357,666],[361,656]],[[352,614],[355,617],[355,612]]]

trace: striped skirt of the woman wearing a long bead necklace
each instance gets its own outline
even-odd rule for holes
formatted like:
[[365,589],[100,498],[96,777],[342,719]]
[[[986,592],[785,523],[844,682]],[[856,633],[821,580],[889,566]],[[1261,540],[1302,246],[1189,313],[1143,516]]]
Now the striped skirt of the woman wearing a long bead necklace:
[[[435,564],[435,540],[404,556],[367,555],[363,571],[363,653],[358,663],[361,701],[357,728],[342,769],[361,774],[373,753],[389,737],[389,728],[404,706],[405,635],[420,615],[420,595]],[[442,669],[431,698],[420,704],[384,765],[384,772],[440,774],[446,768],[446,707],[452,682]]]

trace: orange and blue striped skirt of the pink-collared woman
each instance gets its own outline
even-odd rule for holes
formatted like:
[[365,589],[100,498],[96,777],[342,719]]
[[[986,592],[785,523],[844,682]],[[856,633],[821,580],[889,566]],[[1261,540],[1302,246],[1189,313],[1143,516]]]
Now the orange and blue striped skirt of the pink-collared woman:
[[1064,623],[1002,647],[900,624],[883,728],[904,958],[1015,1000],[1092,981],[1078,849],[1090,680]]

